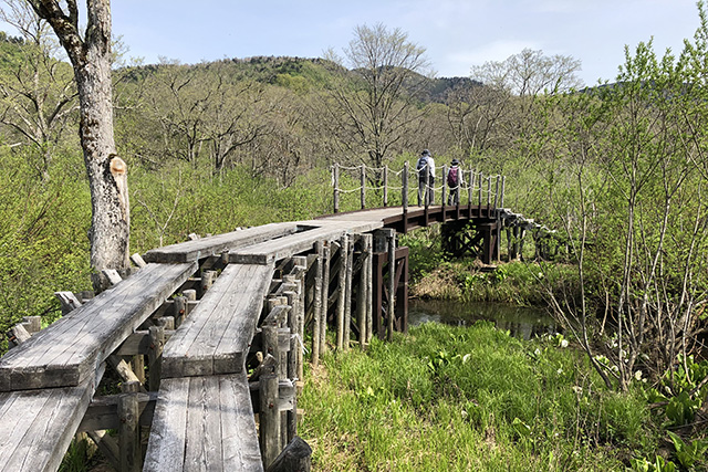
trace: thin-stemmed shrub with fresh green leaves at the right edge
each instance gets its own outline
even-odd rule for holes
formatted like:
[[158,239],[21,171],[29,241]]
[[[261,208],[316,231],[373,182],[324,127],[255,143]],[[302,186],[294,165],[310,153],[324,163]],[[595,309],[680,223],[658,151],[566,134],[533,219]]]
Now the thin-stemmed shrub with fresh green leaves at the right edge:
[[[565,122],[554,129],[556,161],[545,176],[583,293],[577,302],[554,298],[554,307],[581,331],[605,381],[622,389],[638,371],[674,369],[705,323],[708,22],[702,3],[699,11],[697,41],[678,56],[639,43],[626,50],[616,84],[555,102]],[[587,302],[604,308],[600,324]],[[614,325],[610,339],[605,319]]]

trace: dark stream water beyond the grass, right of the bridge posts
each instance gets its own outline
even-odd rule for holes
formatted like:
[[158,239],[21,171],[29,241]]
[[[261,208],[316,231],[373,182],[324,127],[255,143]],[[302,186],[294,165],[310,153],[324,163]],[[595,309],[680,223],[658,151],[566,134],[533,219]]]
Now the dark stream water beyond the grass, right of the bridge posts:
[[553,318],[540,308],[501,303],[464,304],[457,301],[439,300],[408,302],[410,326],[428,322],[468,326],[479,319],[493,322],[497,328],[508,329],[512,336],[523,339],[561,331]]

